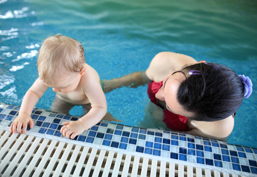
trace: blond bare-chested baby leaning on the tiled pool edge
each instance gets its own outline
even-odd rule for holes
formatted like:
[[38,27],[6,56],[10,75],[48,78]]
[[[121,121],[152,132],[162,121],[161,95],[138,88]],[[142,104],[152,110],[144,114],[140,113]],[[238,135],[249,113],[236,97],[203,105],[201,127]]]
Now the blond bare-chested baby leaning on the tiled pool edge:
[[51,110],[58,112],[55,107],[60,107],[68,113],[74,105],[91,108],[77,121],[64,122],[63,136],[74,139],[103,119],[107,111],[106,98],[98,73],[85,63],[80,42],[61,34],[46,38],[39,50],[37,67],[38,79],[25,94],[11,132],[25,133],[27,124],[30,128],[34,126],[30,115],[48,87],[57,93]]

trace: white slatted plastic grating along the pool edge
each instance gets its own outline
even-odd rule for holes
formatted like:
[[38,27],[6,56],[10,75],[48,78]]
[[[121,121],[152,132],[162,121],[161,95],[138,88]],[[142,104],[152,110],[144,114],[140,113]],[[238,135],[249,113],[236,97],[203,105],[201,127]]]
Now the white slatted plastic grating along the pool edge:
[[238,176],[4,130],[0,137],[0,176]]

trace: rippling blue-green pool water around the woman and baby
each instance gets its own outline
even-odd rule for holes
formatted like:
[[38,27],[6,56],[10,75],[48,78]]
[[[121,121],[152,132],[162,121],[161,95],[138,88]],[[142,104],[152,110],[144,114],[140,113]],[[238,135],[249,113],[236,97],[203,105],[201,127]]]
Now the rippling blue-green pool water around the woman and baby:
[[[101,79],[145,70],[155,54],[173,51],[229,66],[253,81],[228,142],[257,147],[257,2],[182,0],[0,0],[0,101],[20,105],[36,80],[37,50],[51,33],[82,42]],[[123,124],[165,128],[149,114],[146,86],[106,93],[108,112]],[[49,109],[48,89],[37,107]],[[139,97],[140,95],[140,97]],[[80,106],[70,114],[80,115]]]

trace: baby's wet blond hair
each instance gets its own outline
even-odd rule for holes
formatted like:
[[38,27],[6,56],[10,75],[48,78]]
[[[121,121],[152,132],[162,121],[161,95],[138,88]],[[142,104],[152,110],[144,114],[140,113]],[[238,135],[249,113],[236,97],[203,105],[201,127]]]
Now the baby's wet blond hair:
[[81,71],[85,64],[80,42],[56,34],[44,39],[37,60],[39,79],[47,84],[58,84],[65,76]]

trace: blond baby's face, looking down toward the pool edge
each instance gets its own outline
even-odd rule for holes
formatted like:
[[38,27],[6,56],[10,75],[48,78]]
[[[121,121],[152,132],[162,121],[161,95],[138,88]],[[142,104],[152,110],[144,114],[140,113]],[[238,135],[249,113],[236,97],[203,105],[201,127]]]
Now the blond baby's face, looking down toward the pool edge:
[[61,79],[61,82],[58,84],[44,84],[53,88],[54,92],[70,93],[78,87],[80,78],[80,75],[75,73],[65,76],[65,78]]

